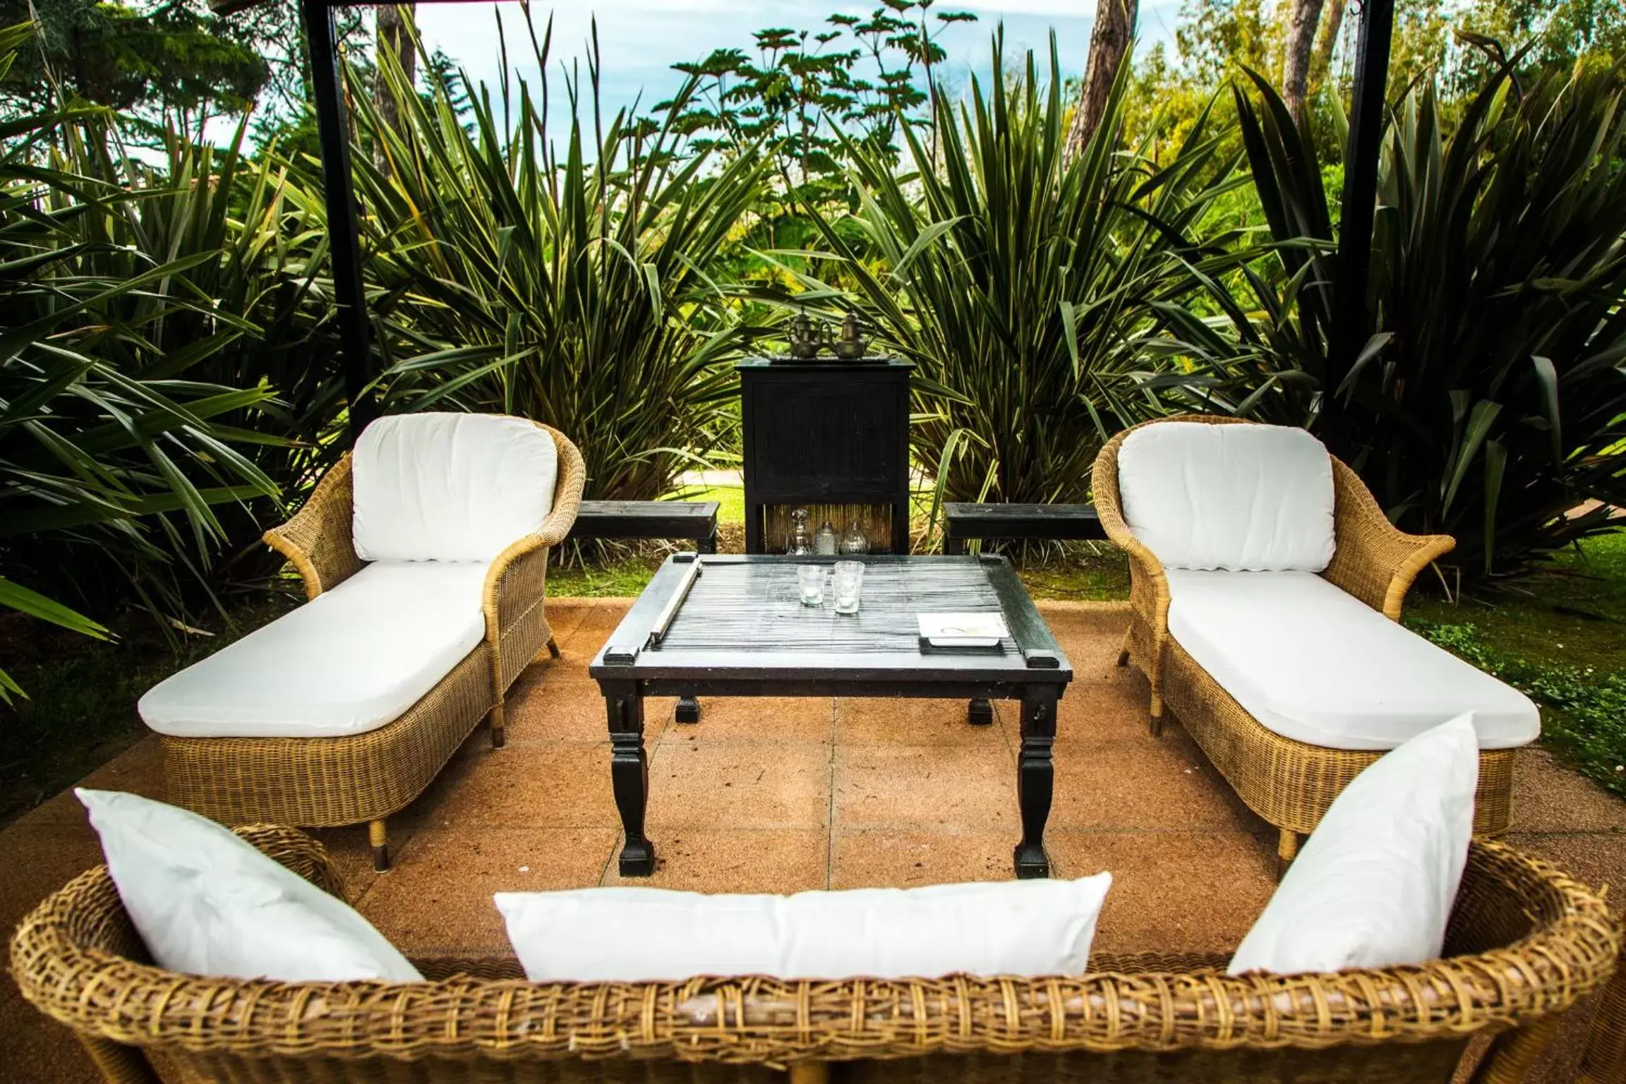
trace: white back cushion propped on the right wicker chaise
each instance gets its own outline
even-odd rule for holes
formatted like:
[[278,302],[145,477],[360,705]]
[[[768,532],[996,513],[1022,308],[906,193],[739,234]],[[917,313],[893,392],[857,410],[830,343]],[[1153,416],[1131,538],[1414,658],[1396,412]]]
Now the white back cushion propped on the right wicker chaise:
[[1164,567],[1320,572],[1332,458],[1291,426],[1166,421],[1119,447],[1124,520]]

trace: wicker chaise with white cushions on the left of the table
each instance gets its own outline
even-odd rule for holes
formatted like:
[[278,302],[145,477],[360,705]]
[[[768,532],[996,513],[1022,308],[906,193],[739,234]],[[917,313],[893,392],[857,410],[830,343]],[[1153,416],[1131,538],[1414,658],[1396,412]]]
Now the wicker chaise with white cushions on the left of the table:
[[[442,440],[463,458],[473,458],[468,455],[468,426],[507,426],[509,440],[515,424],[525,426],[522,432],[530,432],[528,427],[535,426],[551,439],[556,455],[551,510],[535,530],[522,536],[515,533],[512,543],[506,543],[494,559],[380,561],[374,567],[358,556],[351,535],[354,460],[346,453],[327,471],[298,515],[265,533],[265,541],[299,572],[307,603],[190,671],[176,674],[141,699],[143,718],[159,731],[171,801],[223,824],[272,821],[325,827],[367,822],[374,865],[380,871],[389,868],[385,817],[405,808],[429,785],[483,718],[491,720],[493,746],[501,746],[502,697],[507,687],[543,647],[558,655],[543,606],[548,549],[569,533],[585,479],[576,445],[540,423],[447,414],[387,421],[406,427],[397,439],[410,450],[420,450],[413,449],[413,440]],[[463,429],[459,431],[457,426]],[[463,436],[457,436],[459,432]],[[494,502],[504,499],[502,492],[486,496]],[[548,494],[543,494],[543,501],[546,499]],[[470,515],[478,517],[478,509]],[[389,583],[361,583],[364,577],[385,574],[395,579]],[[454,580],[442,582],[446,574]],[[298,736],[301,726],[320,722],[314,715],[332,722],[333,712],[327,709],[333,705],[317,705],[324,709],[317,712],[309,704],[299,704],[286,709],[285,717],[267,718],[263,705],[252,702],[268,696],[267,689],[254,686],[255,691],[246,696],[241,689],[233,689],[231,683],[234,678],[249,683],[262,673],[278,673],[280,681],[291,684],[319,681],[320,678],[299,673],[299,666],[288,661],[291,657],[311,655],[312,648],[309,639],[302,644],[294,639],[299,631],[289,635],[285,622],[299,618],[306,621],[301,629],[307,629],[319,621],[312,608],[327,605],[319,600],[346,583],[351,595],[348,605],[351,609],[359,608],[363,616],[387,616],[393,609],[406,618],[415,616],[413,608],[423,611],[433,603],[436,609],[416,614],[423,626],[418,629],[421,635],[408,639],[434,639],[452,626],[467,627],[465,632],[454,634],[467,639],[454,642],[450,653],[442,650],[431,660],[429,665],[437,666],[437,673],[384,674],[380,687],[400,681],[416,681],[416,687],[433,684],[421,697],[405,697],[405,710],[398,715],[385,712],[371,728],[338,726],[320,736]],[[367,587],[369,596],[358,603],[354,595],[363,587]],[[481,614],[483,635],[478,631]],[[283,631],[276,626],[283,626]],[[345,652],[361,650],[366,645],[358,645],[356,640],[382,637],[384,632],[361,627],[345,635],[327,634],[335,640],[330,647],[338,655],[332,663],[340,666],[356,661],[346,660]],[[473,647],[463,653],[467,642],[473,642]],[[366,670],[372,665],[387,668],[389,660],[363,655],[354,668]],[[192,673],[205,666],[215,668],[213,676],[210,671]],[[341,684],[343,678],[335,681]],[[359,697],[354,705],[343,700],[345,692],[335,694],[341,723],[363,718],[369,710],[376,715],[382,710],[377,709],[379,696],[371,691],[353,696]],[[211,725],[231,720],[239,725]],[[244,726],[242,720],[254,725]],[[244,730],[249,733],[242,733]]]

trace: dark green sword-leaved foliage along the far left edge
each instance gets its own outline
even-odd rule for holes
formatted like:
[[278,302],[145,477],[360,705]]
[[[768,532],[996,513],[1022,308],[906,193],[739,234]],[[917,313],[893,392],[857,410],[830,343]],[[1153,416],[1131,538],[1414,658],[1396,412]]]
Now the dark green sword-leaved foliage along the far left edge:
[[289,229],[270,166],[239,176],[234,150],[174,138],[154,169],[85,107],[5,137],[0,605],[96,634],[49,596],[180,609],[223,546],[259,533],[244,502],[275,507],[257,460],[286,476],[312,453],[278,421],[263,358],[306,353],[293,309],[319,249]]

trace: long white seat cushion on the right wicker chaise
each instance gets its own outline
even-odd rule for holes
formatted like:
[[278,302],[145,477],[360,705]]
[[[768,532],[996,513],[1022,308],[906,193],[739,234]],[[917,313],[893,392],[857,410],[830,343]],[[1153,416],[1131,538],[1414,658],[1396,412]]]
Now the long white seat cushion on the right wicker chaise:
[[1169,635],[1267,728],[1328,749],[1393,749],[1463,712],[1480,746],[1535,741],[1517,689],[1314,572],[1166,569]]

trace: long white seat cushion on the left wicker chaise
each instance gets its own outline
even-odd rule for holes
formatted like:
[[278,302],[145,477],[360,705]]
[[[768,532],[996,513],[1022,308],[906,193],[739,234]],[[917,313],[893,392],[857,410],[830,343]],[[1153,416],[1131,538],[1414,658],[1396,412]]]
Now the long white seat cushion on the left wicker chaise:
[[179,738],[337,738],[402,717],[486,635],[481,562],[369,564],[161,681],[137,709]]

